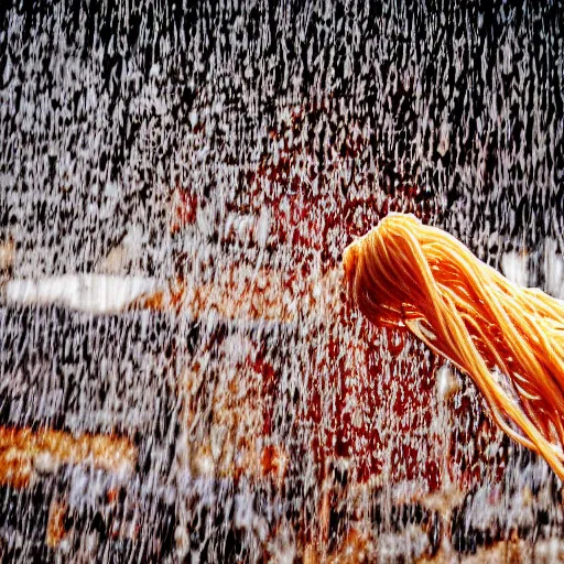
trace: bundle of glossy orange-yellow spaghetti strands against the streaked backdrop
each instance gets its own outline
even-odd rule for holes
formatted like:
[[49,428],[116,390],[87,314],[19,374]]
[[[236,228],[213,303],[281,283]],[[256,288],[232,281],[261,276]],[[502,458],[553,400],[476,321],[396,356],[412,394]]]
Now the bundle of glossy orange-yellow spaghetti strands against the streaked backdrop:
[[387,216],[343,261],[372,323],[408,327],[470,376],[499,427],[564,479],[564,302],[513,284],[412,215]]

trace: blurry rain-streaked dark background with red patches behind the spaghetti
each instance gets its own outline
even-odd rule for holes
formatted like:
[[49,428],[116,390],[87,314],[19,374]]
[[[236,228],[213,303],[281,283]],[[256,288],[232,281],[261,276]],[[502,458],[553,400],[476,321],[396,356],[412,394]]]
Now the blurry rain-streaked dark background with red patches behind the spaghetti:
[[563,6],[485,4],[0,9],[6,562],[564,554],[552,471],[340,281],[395,210],[564,297]]

